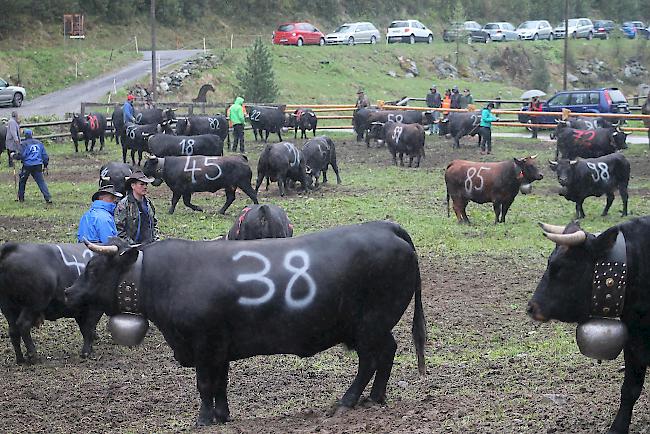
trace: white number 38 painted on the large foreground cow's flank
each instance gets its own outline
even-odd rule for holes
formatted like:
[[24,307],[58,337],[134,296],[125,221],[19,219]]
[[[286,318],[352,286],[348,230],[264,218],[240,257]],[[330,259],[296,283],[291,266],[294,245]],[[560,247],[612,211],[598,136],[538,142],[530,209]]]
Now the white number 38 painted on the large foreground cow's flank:
[[[233,256],[233,261],[239,261],[243,257],[250,257],[259,260],[262,263],[262,270],[256,273],[244,273],[237,276],[237,282],[260,282],[266,286],[266,292],[259,297],[239,297],[239,304],[245,306],[257,306],[264,304],[273,298],[275,294],[275,282],[266,277],[271,270],[271,261],[258,252],[251,250],[242,250]],[[302,262],[300,267],[296,267],[291,262],[294,258],[299,258]],[[316,282],[307,273],[309,269],[309,255],[304,250],[291,250],[284,256],[282,265],[287,271],[292,272],[291,278],[287,283],[284,291],[284,301],[290,308],[300,309],[309,305],[316,296]],[[307,294],[302,298],[295,298],[293,295],[293,287],[298,279],[302,278],[307,284]]]

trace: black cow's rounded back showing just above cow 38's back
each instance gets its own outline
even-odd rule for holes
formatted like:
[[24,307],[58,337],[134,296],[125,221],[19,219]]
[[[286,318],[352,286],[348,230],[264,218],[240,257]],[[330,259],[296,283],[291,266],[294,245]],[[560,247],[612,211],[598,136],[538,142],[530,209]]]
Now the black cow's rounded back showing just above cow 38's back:
[[235,219],[227,240],[258,240],[261,238],[290,238],[293,225],[287,213],[277,205],[249,205]]

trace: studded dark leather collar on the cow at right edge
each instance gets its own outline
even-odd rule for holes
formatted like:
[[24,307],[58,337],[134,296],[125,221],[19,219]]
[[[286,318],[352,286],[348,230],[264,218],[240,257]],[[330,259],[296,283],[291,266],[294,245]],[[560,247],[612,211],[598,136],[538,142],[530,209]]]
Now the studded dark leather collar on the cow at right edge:
[[625,237],[619,231],[607,258],[596,261],[591,291],[592,318],[619,318],[627,288],[627,253]]

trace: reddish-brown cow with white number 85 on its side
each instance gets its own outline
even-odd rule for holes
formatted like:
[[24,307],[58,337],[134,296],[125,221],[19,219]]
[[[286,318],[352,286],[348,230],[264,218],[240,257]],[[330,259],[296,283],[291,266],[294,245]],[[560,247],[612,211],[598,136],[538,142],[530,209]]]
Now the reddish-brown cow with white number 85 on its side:
[[[494,223],[504,223],[508,208],[515,200],[519,189],[524,184],[543,178],[542,173],[535,166],[536,157],[537,155],[513,158],[498,163],[466,160],[454,160],[449,163],[445,171],[447,217],[449,217],[451,197],[458,223],[469,223],[465,212],[469,201],[492,202]],[[522,193],[527,193],[528,188],[522,188]]]

